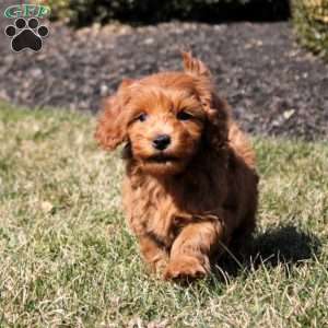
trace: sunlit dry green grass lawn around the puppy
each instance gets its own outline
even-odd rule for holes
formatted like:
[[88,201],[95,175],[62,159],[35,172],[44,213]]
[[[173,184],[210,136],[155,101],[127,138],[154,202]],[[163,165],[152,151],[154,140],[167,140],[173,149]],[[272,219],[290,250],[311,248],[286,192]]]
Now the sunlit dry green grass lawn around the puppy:
[[328,147],[255,139],[258,229],[242,263],[149,277],[95,118],[0,103],[0,327],[328,327]]

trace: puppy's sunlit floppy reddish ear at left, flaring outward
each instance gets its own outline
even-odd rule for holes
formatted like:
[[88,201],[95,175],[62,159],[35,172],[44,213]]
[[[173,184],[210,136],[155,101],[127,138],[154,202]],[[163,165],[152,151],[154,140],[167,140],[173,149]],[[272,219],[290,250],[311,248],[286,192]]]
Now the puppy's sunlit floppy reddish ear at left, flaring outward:
[[103,102],[103,112],[96,127],[95,139],[105,150],[114,150],[127,139],[128,115],[124,107],[128,102],[126,89],[132,83],[132,80],[124,80],[117,93]]

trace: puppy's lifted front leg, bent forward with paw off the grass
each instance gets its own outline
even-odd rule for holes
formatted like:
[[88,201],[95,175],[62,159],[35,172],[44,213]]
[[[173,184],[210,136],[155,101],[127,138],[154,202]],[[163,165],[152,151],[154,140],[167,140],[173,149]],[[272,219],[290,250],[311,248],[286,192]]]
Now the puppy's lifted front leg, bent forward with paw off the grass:
[[223,236],[219,221],[190,223],[175,239],[164,279],[197,278],[210,272],[210,254]]

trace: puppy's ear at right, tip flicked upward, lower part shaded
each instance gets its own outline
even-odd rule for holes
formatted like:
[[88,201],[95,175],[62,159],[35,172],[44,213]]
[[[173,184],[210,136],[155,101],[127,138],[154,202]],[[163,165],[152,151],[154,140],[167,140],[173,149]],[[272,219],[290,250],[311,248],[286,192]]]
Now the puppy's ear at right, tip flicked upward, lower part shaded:
[[215,94],[208,67],[201,60],[194,58],[190,52],[181,55],[185,72],[195,78],[195,86],[207,114],[206,140],[215,149],[220,149],[227,141],[229,105]]

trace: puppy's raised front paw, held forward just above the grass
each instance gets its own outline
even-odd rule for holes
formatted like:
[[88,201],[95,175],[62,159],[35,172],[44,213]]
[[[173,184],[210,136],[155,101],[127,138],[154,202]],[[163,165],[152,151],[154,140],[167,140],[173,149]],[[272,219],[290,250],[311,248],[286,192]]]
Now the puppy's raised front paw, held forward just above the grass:
[[165,280],[188,280],[202,278],[208,270],[196,257],[181,256],[171,261],[164,272]]

